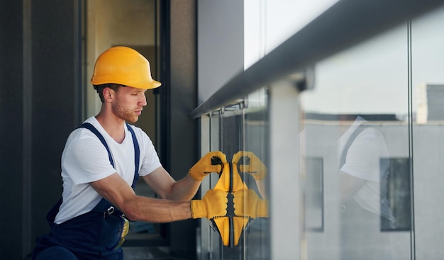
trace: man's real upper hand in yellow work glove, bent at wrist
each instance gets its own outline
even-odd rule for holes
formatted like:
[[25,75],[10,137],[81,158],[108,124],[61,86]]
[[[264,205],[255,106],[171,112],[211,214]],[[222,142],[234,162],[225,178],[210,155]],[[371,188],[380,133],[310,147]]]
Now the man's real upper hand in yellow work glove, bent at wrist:
[[221,164],[226,164],[227,159],[226,155],[220,151],[217,152],[209,152],[202,157],[199,162],[196,162],[191,169],[189,169],[189,175],[191,175],[195,180],[201,181],[205,178],[206,175],[211,174],[211,172],[219,173],[222,169],[221,164],[212,164],[211,159],[213,157],[218,157],[221,159]]

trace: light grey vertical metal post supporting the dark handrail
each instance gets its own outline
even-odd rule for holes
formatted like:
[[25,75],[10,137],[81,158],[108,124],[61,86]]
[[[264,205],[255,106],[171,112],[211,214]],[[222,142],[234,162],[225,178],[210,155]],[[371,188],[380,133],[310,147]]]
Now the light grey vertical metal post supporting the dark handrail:
[[301,258],[299,91],[289,82],[270,87],[271,259]]

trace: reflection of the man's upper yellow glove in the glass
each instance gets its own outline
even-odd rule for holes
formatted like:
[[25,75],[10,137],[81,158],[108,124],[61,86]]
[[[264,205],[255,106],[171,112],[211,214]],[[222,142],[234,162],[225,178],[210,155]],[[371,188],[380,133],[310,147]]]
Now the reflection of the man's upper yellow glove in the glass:
[[[240,160],[243,159],[243,162]],[[248,163],[248,160],[250,161]],[[239,165],[239,170],[242,173],[247,172],[256,180],[264,179],[267,175],[267,167],[257,158],[256,154],[252,152],[239,151],[233,155],[233,167]]]

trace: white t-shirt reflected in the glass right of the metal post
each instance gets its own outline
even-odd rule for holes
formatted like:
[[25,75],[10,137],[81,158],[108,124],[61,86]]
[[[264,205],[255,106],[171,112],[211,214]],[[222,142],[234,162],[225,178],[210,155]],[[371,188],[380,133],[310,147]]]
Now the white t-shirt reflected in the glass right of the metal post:
[[[357,117],[353,125],[340,137],[338,154],[342,153],[345,143],[363,122],[364,118]],[[376,128],[365,128],[350,145],[345,164],[340,171],[366,180],[353,199],[362,208],[391,220],[392,210],[387,202],[389,157],[389,149],[382,133]]]

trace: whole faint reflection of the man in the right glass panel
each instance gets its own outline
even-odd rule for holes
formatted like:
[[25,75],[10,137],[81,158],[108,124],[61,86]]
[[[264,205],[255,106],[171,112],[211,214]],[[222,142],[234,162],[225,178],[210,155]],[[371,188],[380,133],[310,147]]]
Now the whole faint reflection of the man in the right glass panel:
[[353,119],[338,140],[341,259],[383,259],[381,220],[394,227],[387,200],[390,154],[382,133],[364,118],[340,118]]

